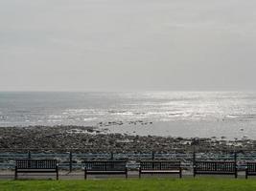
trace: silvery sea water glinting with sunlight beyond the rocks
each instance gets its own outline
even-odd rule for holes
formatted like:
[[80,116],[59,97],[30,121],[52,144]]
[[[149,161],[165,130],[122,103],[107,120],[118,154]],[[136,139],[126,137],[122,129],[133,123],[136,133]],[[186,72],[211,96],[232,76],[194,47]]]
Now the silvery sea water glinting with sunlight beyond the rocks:
[[90,125],[144,136],[256,138],[256,92],[1,92],[0,126],[28,125]]

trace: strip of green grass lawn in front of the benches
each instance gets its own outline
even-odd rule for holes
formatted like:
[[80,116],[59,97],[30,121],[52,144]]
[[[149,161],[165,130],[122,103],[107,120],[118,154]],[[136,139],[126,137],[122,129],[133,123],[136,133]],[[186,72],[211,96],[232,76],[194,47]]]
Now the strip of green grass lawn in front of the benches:
[[0,180],[0,191],[254,191],[256,180],[221,178],[130,180]]

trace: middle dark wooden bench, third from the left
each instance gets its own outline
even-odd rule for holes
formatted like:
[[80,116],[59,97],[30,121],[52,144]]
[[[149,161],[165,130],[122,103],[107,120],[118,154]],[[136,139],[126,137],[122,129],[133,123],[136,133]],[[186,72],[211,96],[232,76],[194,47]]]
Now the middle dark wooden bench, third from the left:
[[176,160],[140,161],[139,178],[142,174],[178,174],[181,179],[181,162]]

